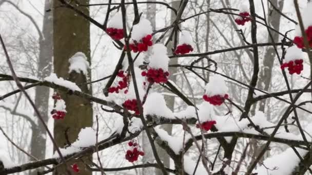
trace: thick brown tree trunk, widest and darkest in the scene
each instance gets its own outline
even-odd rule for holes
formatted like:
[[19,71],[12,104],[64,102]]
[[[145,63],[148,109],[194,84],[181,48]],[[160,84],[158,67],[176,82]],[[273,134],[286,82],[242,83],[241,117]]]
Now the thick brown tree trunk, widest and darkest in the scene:
[[[81,4],[89,4],[88,0],[79,1]],[[54,1],[54,7],[60,6],[59,1]],[[89,8],[79,8],[89,15]],[[83,84],[90,79],[89,75],[69,71],[68,59],[76,52],[83,52],[90,62],[90,23],[74,11],[67,8],[55,8],[53,12],[53,40],[54,40],[54,72],[58,77],[63,77],[80,86],[82,92],[91,94],[91,88]],[[83,85],[81,85],[83,84]],[[61,93],[66,102],[67,114],[63,120],[54,121],[54,139],[59,147],[64,147],[68,142],[72,143],[84,127],[92,126],[92,105],[90,100]],[[66,130],[68,129],[68,132]],[[66,139],[66,134],[68,141]],[[54,148],[55,149],[55,148]],[[71,164],[71,163],[70,163]],[[68,164],[69,165],[69,164]],[[91,174],[81,162],[77,162],[80,168],[79,174]],[[66,174],[65,169],[57,169],[55,174]]]

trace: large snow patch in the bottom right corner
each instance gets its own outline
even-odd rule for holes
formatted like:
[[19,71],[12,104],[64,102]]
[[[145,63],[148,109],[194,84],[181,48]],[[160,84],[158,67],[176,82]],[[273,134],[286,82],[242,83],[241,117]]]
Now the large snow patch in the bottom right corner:
[[[307,150],[297,148],[301,157],[307,154]],[[270,174],[270,175],[281,175],[291,174],[295,167],[299,164],[300,159],[295,154],[294,150],[287,148],[281,154],[274,155],[264,160],[263,164],[255,172],[258,174]]]

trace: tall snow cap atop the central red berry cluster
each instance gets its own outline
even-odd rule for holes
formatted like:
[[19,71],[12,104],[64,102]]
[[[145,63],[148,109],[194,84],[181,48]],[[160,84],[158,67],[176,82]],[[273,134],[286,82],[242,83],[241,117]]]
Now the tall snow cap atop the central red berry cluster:
[[162,68],[168,71],[169,57],[167,55],[167,48],[162,43],[157,43],[153,46],[153,53],[149,59],[149,67],[153,69]]

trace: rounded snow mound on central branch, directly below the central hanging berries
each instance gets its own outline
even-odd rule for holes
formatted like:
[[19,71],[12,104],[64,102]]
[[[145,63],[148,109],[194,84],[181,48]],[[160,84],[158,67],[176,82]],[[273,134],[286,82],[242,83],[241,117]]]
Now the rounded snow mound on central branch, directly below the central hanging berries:
[[146,98],[143,109],[144,116],[156,115],[170,119],[174,118],[172,111],[166,105],[164,96],[160,93],[154,92],[149,94]]

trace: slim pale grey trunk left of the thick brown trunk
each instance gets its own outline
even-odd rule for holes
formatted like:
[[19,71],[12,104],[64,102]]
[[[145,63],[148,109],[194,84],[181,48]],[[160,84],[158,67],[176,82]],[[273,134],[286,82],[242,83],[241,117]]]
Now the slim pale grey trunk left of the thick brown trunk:
[[[49,0],[45,1],[45,9],[51,8]],[[37,77],[43,79],[51,73],[51,61],[53,56],[52,46],[52,18],[51,12],[45,12],[43,18],[42,34],[44,38],[40,38],[40,53],[38,58]],[[49,108],[49,88],[45,86],[37,86],[35,89],[35,105],[42,115],[45,123],[48,122]],[[32,136],[30,142],[30,154],[37,159],[45,159],[46,155],[46,129],[40,121],[37,126],[32,128]],[[32,160],[33,161],[33,160]],[[32,171],[31,174],[36,174]]]

